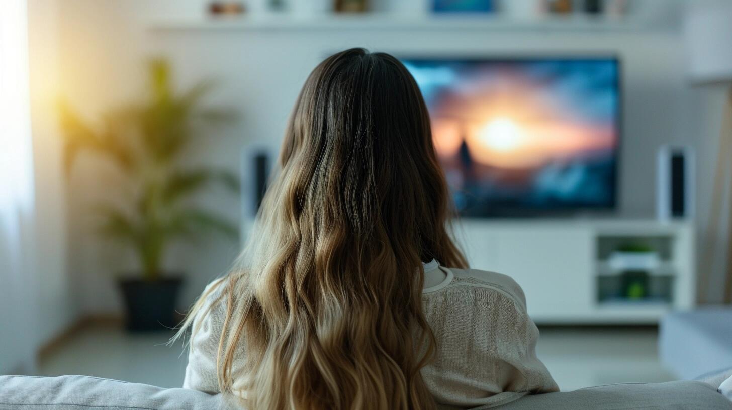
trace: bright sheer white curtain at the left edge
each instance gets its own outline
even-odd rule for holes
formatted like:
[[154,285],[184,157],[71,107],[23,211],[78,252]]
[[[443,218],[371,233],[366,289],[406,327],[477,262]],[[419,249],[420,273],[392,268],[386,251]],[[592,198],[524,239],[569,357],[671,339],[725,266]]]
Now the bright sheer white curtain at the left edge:
[[0,1],[0,374],[34,370],[28,66],[26,0]]

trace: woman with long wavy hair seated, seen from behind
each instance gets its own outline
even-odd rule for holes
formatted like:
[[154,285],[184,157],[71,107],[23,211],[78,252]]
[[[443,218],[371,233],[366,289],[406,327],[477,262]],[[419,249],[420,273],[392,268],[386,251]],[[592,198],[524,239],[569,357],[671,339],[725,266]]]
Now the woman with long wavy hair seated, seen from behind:
[[[519,286],[467,269],[417,83],[354,48],[313,70],[241,266],[203,292],[184,387],[247,409],[498,406],[557,387]],[[450,266],[447,267],[441,266]]]

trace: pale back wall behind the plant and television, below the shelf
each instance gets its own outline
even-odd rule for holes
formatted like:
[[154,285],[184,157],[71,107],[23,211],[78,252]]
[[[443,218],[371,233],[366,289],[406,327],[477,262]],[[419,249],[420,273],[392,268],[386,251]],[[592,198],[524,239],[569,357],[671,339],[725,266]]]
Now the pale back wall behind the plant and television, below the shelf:
[[[214,143],[201,146],[195,160],[238,169],[244,146],[276,149],[299,87],[315,64],[332,51],[363,46],[411,55],[617,53],[624,64],[619,214],[654,215],[655,154],[660,145],[670,142],[698,149],[698,209],[703,213],[712,172],[712,165],[703,158],[714,152],[715,127],[721,115],[719,96],[714,90],[694,90],[687,85],[676,2],[661,3],[662,8],[656,9],[662,10],[660,22],[653,24],[656,28],[631,31],[412,31],[400,27],[166,31],[152,30],[149,21],[160,16],[198,15],[205,2],[67,0],[60,23],[63,91],[90,114],[136,97],[142,86],[143,59],[154,54],[171,59],[183,85],[213,75],[223,86],[212,101],[239,107],[242,122],[235,130],[217,135]],[[646,14],[653,13],[646,10]],[[88,174],[92,172],[77,171],[70,188],[70,262],[81,280],[79,286],[86,289],[81,295],[83,309],[117,310],[119,299],[109,274],[130,269],[132,264],[129,256],[113,256],[113,250],[86,231],[89,221],[80,194],[94,190]],[[239,215],[239,202],[233,198],[216,196],[209,204],[231,217]],[[236,253],[237,245],[223,241],[210,242],[195,252],[188,247],[176,250],[171,268],[184,269],[190,277],[181,307],[208,280],[224,272]],[[720,268],[715,274],[719,280]]]

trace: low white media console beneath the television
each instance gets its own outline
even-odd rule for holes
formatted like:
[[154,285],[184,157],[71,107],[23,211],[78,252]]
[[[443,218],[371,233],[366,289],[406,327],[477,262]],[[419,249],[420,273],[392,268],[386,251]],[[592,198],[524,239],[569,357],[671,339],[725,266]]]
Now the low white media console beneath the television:
[[[523,288],[538,324],[656,324],[695,300],[694,225],[622,219],[463,219],[455,236],[472,268],[500,272]],[[642,246],[657,264],[646,294],[627,297],[610,257]],[[620,296],[619,296],[620,295]]]

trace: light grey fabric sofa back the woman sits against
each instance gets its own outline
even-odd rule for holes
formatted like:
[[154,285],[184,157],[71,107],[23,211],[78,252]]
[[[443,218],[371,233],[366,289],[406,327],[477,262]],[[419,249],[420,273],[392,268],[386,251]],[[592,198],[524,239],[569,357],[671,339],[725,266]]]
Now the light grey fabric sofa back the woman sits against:
[[[529,395],[498,410],[732,410],[717,392],[732,369],[703,380],[624,383],[573,392]],[[88,376],[0,376],[0,410],[212,410],[228,409],[220,395],[190,389],[163,389]],[[446,408],[446,409],[449,409]],[[481,409],[481,408],[477,408]]]

